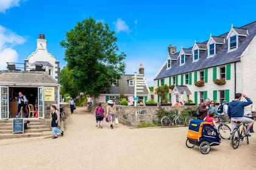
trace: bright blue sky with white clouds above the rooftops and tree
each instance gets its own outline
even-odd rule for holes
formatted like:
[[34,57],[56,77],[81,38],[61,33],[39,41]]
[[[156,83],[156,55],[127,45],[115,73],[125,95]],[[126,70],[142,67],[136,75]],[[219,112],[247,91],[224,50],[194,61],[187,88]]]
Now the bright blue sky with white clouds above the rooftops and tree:
[[166,60],[168,46],[188,48],[212,35],[229,32],[256,19],[256,1],[60,1],[0,0],[0,69],[6,62],[24,63],[35,52],[39,33],[48,52],[65,66],[60,41],[88,17],[115,30],[126,53],[126,73],[143,63],[149,86]]

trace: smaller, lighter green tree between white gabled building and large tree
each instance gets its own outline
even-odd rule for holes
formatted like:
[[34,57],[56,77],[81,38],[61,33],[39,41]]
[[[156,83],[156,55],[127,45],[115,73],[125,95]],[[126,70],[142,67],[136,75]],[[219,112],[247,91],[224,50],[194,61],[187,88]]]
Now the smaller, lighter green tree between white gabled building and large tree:
[[60,92],[62,95],[69,94],[71,97],[77,97],[79,90],[76,88],[76,80],[74,78],[74,73],[68,69],[68,67],[63,67],[60,71]]

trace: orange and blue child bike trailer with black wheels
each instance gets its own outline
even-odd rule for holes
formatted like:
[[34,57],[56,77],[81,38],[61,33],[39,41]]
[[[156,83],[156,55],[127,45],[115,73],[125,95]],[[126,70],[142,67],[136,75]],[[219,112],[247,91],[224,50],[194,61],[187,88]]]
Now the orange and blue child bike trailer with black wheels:
[[208,154],[210,146],[216,146],[219,143],[221,143],[221,138],[212,123],[199,119],[190,121],[186,140],[188,148],[193,148],[196,145],[199,146],[199,151],[202,154]]

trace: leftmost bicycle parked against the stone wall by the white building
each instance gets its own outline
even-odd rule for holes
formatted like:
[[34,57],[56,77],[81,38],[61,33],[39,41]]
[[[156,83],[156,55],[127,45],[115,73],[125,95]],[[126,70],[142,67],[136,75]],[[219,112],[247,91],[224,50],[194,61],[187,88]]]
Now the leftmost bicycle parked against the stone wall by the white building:
[[185,125],[185,121],[182,117],[179,117],[177,114],[172,114],[168,116],[164,116],[161,118],[161,124],[164,127],[170,127],[176,125]]

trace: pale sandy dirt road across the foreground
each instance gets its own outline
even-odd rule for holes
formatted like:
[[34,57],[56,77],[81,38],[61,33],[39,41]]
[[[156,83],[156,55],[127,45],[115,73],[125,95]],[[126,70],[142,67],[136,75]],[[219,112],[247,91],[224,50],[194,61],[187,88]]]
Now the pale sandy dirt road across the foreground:
[[63,137],[1,140],[0,169],[256,169],[256,134],[249,145],[235,150],[222,140],[203,155],[185,146],[188,127],[95,125],[93,115],[76,113]]

